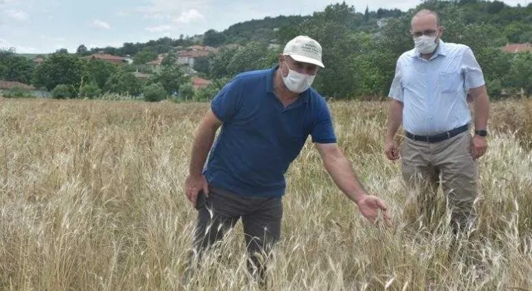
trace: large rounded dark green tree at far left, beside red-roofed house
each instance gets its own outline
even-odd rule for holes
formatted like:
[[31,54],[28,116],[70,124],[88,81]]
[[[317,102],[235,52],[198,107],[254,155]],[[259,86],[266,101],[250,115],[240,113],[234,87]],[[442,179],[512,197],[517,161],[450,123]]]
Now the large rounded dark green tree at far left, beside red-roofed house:
[[53,53],[35,69],[33,84],[48,91],[57,85],[78,88],[82,76],[82,60],[69,53]]

